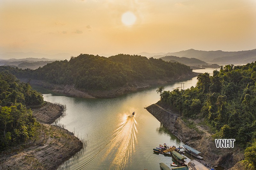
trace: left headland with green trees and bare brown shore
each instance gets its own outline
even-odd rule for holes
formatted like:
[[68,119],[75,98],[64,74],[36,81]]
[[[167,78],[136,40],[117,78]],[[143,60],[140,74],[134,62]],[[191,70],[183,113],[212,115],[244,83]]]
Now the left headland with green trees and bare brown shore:
[[0,169],[56,169],[83,148],[73,133],[50,125],[63,106],[45,102],[11,74],[1,72],[0,81]]

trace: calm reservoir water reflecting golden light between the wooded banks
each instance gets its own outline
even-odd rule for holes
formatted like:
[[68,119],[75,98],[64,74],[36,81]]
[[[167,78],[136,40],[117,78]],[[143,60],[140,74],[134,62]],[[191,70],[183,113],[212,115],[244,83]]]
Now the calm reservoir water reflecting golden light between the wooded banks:
[[[195,72],[212,73],[213,70]],[[196,81],[194,77],[182,83],[186,89],[195,86]],[[180,83],[165,85],[165,90],[179,88]],[[84,149],[59,169],[160,169],[159,163],[170,167],[174,161],[172,157],[153,153],[153,148],[164,143],[183,145],[144,108],[160,100],[157,87],[114,99],[67,97],[34,88],[43,93],[44,100],[66,105],[66,115],[55,124],[63,125],[84,142]]]

